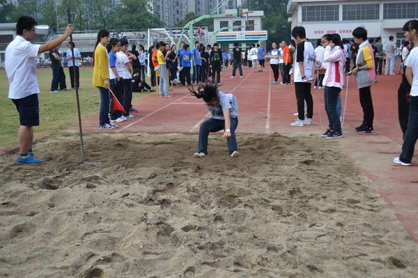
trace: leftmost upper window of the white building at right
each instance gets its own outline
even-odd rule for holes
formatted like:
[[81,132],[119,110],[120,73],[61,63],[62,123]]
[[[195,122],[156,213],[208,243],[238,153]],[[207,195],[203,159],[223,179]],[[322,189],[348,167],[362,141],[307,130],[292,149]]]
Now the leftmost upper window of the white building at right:
[[302,6],[302,22],[336,22],[339,20],[339,6]]

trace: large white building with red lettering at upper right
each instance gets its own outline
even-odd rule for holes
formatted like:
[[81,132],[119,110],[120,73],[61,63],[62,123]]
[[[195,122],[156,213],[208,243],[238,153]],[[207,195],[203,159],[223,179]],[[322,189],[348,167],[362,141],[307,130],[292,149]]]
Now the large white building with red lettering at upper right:
[[405,22],[418,18],[415,0],[289,0],[289,22],[304,26],[311,41],[326,33],[339,33],[341,38],[353,38],[352,31],[359,26],[367,29],[369,38],[382,37],[389,41],[393,35],[399,45],[405,37]]

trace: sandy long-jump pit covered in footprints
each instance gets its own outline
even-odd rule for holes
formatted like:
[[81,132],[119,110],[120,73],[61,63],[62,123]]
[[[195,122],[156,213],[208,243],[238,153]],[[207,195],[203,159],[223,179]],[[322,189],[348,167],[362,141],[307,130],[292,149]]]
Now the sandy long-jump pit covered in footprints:
[[418,247],[316,136],[70,133],[0,156],[0,277],[416,277]]

